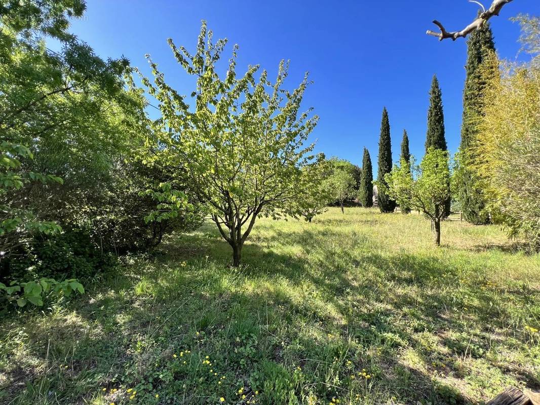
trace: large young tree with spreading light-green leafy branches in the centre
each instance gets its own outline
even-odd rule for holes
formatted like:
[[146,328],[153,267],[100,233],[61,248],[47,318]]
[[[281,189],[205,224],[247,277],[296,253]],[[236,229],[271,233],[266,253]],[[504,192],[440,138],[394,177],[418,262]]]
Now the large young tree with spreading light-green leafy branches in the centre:
[[231,245],[233,266],[239,266],[259,215],[278,219],[291,212],[301,194],[297,185],[314,146],[303,144],[318,117],[311,116],[312,109],[300,112],[307,73],[294,91],[282,89],[288,63],[280,63],[274,83],[259,66],[249,66],[238,77],[234,46],[225,77],[220,77],[217,65],[226,43],[214,43],[205,22],[193,54],[168,40],[178,63],[195,79],[192,105],[166,83],[149,56],[154,80],[143,78],[143,84],[161,111],[152,124],[158,140],[149,143],[154,160],[186,173],[187,193],[207,206]]

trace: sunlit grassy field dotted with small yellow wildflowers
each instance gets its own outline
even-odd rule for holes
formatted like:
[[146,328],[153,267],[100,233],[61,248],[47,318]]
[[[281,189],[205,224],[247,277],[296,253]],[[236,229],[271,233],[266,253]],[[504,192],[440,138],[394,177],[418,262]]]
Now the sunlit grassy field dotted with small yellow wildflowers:
[[0,403],[455,404],[540,389],[540,255],[495,226],[338,208],[212,224],[0,321]]

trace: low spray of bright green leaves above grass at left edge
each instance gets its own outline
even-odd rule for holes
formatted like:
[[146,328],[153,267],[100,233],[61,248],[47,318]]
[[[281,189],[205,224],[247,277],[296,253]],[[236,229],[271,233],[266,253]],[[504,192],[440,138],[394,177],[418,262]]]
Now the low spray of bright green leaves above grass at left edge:
[[41,278],[35,281],[18,283],[10,282],[9,286],[0,282],[0,302],[16,303],[18,307],[24,307],[27,303],[43,306],[43,299],[49,295],[58,298],[69,297],[72,292],[84,294],[84,287],[75,279],[56,281],[54,279]]

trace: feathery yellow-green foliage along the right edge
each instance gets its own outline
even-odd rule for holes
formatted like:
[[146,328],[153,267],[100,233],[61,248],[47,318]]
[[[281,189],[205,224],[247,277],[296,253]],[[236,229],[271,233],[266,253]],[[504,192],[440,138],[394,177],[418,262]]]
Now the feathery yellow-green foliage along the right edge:
[[[539,31],[540,32],[540,31]],[[493,71],[501,68],[502,76]],[[472,146],[471,170],[480,179],[489,211],[510,236],[523,234],[540,248],[540,68],[512,65],[492,55],[482,66],[484,110]]]

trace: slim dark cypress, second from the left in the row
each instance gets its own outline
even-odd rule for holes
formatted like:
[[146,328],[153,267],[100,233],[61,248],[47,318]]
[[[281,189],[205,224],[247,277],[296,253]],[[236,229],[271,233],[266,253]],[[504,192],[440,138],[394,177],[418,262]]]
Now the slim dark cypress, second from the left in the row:
[[394,212],[396,202],[387,194],[388,184],[384,175],[392,171],[392,144],[390,143],[390,121],[386,107],[382,110],[381,136],[379,138],[379,170],[377,171],[377,201],[381,212]]

